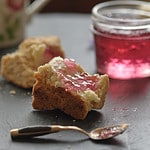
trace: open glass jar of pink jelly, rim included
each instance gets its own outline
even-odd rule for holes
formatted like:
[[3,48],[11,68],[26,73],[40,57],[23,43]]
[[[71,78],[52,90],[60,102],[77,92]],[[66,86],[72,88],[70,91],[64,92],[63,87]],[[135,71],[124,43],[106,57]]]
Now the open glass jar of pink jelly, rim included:
[[150,2],[108,1],[92,9],[97,71],[110,78],[150,76]]

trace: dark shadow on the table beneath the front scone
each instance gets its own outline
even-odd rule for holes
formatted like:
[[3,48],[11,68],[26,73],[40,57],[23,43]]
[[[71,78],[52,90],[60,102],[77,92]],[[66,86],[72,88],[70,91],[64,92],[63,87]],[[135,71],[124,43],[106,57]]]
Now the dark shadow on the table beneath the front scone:
[[[31,122],[38,124],[49,125],[72,125],[78,126],[84,130],[90,131],[97,126],[103,120],[103,115],[99,111],[91,110],[84,120],[76,120],[73,117],[65,114],[60,110],[52,111],[32,111],[30,114]],[[29,121],[30,122],[30,121]]]

